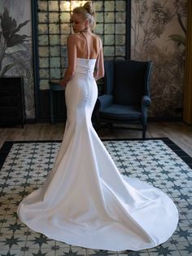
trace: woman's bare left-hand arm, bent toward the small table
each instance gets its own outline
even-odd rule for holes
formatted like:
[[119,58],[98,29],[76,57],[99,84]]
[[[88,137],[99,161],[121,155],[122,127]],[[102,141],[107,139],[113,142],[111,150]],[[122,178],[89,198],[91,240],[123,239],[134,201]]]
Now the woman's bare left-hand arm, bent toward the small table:
[[76,42],[74,35],[68,36],[68,69],[64,73],[63,79],[60,81],[61,86],[66,86],[68,81],[72,79],[76,71]]

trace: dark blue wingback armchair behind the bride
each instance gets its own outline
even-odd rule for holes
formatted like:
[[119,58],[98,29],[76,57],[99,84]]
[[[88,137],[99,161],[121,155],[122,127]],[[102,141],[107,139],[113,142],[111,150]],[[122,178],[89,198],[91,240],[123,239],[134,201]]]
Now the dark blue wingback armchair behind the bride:
[[105,94],[98,97],[99,122],[139,124],[146,138],[151,105],[151,61],[106,60]]

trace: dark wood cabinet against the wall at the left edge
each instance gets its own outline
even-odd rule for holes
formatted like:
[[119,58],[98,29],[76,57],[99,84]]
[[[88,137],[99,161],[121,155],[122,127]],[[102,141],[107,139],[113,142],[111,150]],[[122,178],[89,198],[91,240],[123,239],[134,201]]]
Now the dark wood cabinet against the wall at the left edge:
[[24,80],[0,77],[0,126],[24,127]]

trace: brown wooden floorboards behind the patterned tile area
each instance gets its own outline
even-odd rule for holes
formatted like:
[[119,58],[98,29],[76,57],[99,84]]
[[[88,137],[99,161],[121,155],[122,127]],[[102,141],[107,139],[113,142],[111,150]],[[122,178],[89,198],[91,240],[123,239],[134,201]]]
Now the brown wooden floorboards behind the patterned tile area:
[[[63,139],[64,124],[33,124],[25,125],[24,129],[0,128],[0,148],[7,140],[60,140]],[[141,138],[139,130],[121,128],[103,128],[98,130],[101,139]],[[147,127],[146,137],[168,137],[192,157],[192,126],[182,122],[150,122]]]

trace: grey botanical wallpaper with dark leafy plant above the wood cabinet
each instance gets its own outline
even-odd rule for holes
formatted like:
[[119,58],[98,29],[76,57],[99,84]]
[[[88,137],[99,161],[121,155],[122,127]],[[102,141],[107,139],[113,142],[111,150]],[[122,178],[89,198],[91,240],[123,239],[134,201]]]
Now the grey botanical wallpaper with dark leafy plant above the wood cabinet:
[[31,0],[0,1],[0,76],[24,77],[27,118],[35,117]]

